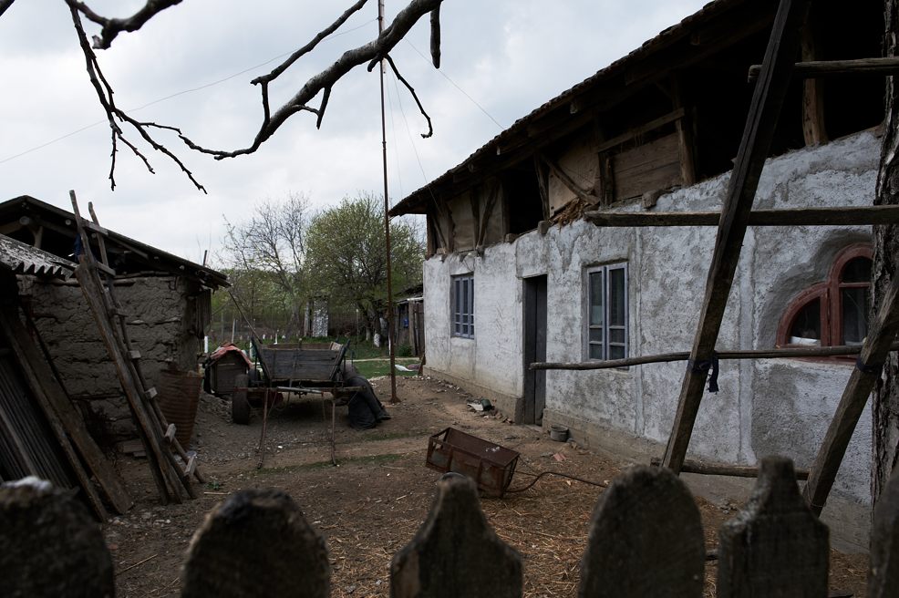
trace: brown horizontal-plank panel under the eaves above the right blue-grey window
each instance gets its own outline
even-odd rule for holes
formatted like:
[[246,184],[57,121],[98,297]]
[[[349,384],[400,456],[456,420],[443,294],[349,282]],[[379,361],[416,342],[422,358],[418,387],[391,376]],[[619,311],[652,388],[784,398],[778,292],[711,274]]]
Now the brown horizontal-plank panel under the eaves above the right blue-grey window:
[[677,133],[615,155],[615,201],[682,184]]

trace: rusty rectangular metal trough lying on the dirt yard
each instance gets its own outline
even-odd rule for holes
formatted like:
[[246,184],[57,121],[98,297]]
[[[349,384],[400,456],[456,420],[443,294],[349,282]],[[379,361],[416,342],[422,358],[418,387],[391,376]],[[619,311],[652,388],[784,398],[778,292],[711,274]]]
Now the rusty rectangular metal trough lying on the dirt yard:
[[485,494],[501,498],[509,488],[518,456],[514,450],[456,428],[446,428],[428,439],[426,465],[444,473],[453,471],[468,476]]

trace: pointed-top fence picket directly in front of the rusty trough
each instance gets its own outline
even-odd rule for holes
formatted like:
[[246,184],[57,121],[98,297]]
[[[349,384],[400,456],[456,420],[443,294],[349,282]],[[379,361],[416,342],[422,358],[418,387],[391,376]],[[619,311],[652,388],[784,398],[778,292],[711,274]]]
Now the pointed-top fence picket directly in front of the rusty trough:
[[390,562],[390,596],[521,598],[521,556],[488,525],[470,479],[438,482],[428,519]]

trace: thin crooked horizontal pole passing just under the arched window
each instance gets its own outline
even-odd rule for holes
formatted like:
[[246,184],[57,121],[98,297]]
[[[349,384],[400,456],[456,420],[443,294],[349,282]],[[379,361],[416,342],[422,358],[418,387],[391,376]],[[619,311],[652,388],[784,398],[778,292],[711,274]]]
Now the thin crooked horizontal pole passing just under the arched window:
[[[890,345],[891,351],[899,351],[899,342]],[[798,346],[784,349],[755,349],[749,351],[716,351],[718,359],[782,359],[785,357],[836,357],[853,356],[862,353],[862,347],[856,345],[835,346]],[[613,369],[615,367],[642,366],[643,364],[661,364],[671,361],[687,361],[687,351],[677,353],[661,353],[654,356],[625,357],[624,359],[607,359],[605,361],[577,361],[573,363],[535,362],[531,369]]]

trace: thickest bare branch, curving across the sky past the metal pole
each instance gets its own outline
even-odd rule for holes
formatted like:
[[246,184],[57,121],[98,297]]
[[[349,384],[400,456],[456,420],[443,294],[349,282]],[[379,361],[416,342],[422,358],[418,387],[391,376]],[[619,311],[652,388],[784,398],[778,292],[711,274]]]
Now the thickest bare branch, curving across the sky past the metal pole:
[[[284,124],[284,121],[289,119],[296,112],[308,110],[315,112],[320,116],[322,108],[319,108],[319,110],[308,108],[307,105],[309,102],[311,102],[319,93],[325,91],[325,89],[333,88],[335,83],[353,68],[366,64],[367,62],[377,62],[381,58],[386,57],[387,53],[399,43],[399,40],[406,36],[408,30],[418,22],[418,19],[422,15],[432,12],[438,8],[442,2],[443,0],[411,0],[408,6],[401,10],[394,18],[393,23],[391,23],[390,26],[387,26],[381,35],[377,36],[375,41],[369,42],[365,46],[347,50],[333,65],[325,68],[325,70],[306,81],[303,88],[301,88],[293,98],[285,102],[281,108],[278,108],[271,117],[267,117],[267,90],[263,91],[263,98],[265,98],[263,101],[263,112],[267,118],[263,119],[263,124],[256,133],[253,143],[249,147],[234,150],[209,149],[195,143],[184,135],[181,135],[181,139],[189,148],[205,154],[210,154],[216,160],[234,158],[253,153],[256,149],[259,149],[264,141],[274,135],[274,132]],[[263,84],[264,89],[264,85],[267,83],[267,81],[264,80],[264,77],[256,79],[256,81]]]

